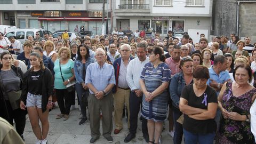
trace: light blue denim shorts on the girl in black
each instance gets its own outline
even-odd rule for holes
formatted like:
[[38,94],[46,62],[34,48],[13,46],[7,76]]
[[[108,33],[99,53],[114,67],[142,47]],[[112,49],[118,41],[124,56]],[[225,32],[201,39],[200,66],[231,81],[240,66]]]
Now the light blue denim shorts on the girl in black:
[[42,95],[31,94],[28,92],[27,107],[42,108]]

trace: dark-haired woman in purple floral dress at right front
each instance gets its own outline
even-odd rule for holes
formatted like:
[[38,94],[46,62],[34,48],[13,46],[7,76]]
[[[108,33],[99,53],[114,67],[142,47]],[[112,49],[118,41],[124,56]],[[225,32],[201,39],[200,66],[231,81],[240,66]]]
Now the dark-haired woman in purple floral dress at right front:
[[216,143],[255,143],[250,129],[250,107],[256,96],[249,65],[239,65],[233,73],[235,82],[223,85],[219,98],[222,112]]

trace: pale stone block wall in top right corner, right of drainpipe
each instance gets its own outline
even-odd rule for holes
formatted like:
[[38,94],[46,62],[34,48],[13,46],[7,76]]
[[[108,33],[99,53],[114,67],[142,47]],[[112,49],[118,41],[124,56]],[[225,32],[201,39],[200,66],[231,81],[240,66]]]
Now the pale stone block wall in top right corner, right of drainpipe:
[[256,42],[256,2],[240,3],[239,25],[240,37],[250,36],[252,43]]

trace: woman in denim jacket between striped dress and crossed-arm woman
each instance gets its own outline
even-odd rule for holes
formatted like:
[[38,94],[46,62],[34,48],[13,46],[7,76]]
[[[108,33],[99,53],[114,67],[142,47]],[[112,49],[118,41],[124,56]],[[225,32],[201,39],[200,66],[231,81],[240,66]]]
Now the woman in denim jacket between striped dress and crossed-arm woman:
[[182,141],[183,127],[177,120],[182,115],[180,111],[180,97],[183,87],[189,84],[193,84],[193,60],[190,58],[183,58],[180,61],[180,73],[175,74],[172,77],[172,81],[169,86],[169,91],[172,99],[172,111],[174,121],[174,136],[173,143],[180,144]]

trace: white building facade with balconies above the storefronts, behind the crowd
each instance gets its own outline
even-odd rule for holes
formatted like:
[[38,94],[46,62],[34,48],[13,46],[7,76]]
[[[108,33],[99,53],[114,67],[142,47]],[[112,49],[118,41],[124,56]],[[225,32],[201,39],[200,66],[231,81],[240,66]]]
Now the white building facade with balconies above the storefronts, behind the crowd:
[[210,34],[212,0],[117,0],[113,6],[113,27],[118,29],[155,30],[162,37],[169,30],[195,38]]

